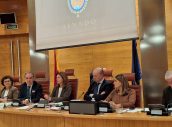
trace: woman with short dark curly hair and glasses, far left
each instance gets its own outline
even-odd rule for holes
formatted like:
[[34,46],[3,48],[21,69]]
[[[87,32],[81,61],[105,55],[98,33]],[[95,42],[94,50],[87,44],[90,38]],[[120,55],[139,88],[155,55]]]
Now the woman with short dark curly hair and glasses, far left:
[[13,86],[13,78],[11,76],[4,76],[1,79],[1,84],[4,86],[0,93],[0,102],[12,101],[18,99],[18,89]]

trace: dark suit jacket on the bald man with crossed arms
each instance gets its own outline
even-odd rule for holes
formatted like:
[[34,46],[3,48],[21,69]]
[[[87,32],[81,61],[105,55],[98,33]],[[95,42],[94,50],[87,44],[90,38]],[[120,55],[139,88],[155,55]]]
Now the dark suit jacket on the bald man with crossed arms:
[[[92,98],[94,98],[95,101],[104,100],[114,88],[114,85],[112,83],[104,79],[100,86],[99,93],[94,94],[94,89],[96,85],[97,85],[96,82],[94,81],[91,82],[90,87],[88,88],[87,92],[84,95],[84,100],[91,101]],[[93,94],[93,96],[90,97],[90,94]]]

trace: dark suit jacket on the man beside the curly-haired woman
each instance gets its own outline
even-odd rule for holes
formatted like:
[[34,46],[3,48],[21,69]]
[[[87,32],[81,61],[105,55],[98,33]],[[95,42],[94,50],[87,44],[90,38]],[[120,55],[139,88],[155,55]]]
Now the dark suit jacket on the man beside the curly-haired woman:
[[[32,89],[31,89],[31,101],[33,103],[37,103],[37,102],[39,102],[41,97],[42,97],[42,87],[36,81],[33,81]],[[27,98],[27,84],[26,84],[26,82],[24,82],[20,86],[19,99],[21,101],[28,99]]]

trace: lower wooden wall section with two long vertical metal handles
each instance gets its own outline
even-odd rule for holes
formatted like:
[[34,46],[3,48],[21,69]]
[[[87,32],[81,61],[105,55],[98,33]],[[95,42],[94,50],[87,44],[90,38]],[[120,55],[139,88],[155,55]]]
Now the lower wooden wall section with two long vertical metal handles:
[[[17,40],[20,42],[20,65],[21,65],[21,77],[26,71],[30,70],[30,54],[29,54],[29,41],[28,35],[21,36],[6,36],[0,38],[0,79],[4,75],[12,75],[11,71],[11,54],[10,54],[10,42],[13,43],[13,57],[14,57],[14,76],[19,76],[18,68],[18,49]],[[23,81],[23,80],[22,80]]]

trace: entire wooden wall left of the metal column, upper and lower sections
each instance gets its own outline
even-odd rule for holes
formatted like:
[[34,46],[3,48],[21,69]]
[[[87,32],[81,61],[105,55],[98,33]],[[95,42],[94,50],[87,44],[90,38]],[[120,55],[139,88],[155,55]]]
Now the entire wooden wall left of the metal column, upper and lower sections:
[[0,79],[11,74],[10,41],[13,41],[14,75],[18,76],[17,43],[20,41],[21,76],[30,70],[27,0],[0,0],[0,13],[16,13],[18,29],[7,30],[0,24]]

